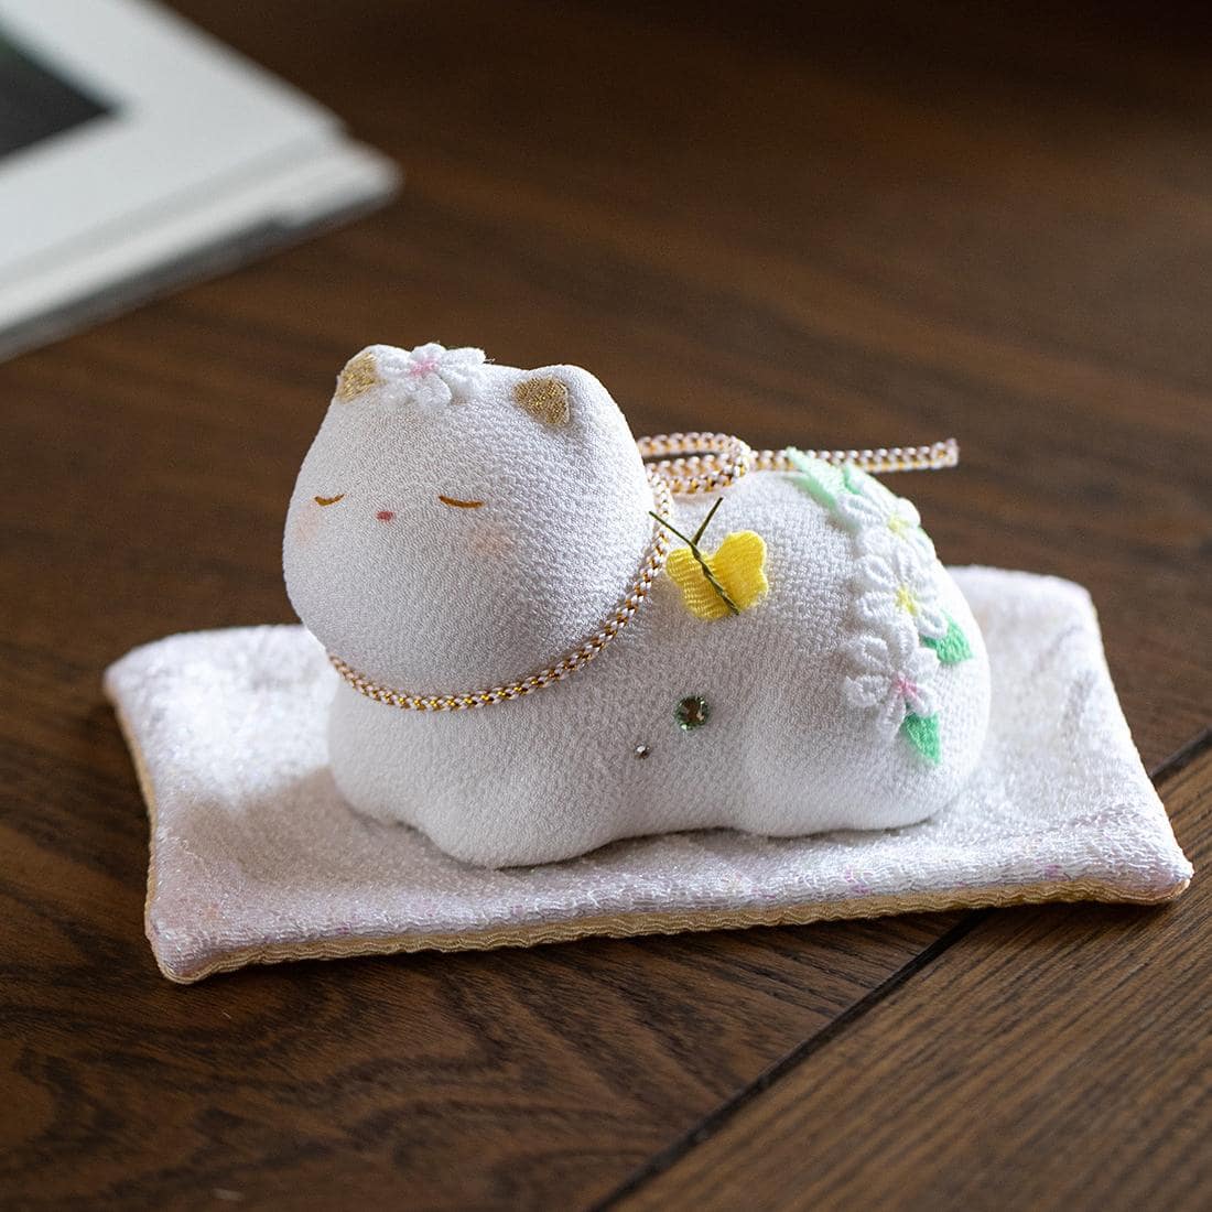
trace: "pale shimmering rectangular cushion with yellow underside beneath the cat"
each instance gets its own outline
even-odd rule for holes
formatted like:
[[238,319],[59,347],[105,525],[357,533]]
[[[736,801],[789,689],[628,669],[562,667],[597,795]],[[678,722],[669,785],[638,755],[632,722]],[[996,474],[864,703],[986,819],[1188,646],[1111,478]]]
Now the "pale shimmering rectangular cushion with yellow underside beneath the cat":
[[287,959],[1178,894],[1191,868],[1132,744],[1086,591],[953,573],[984,635],[993,696],[981,762],[945,810],[870,833],[665,834],[530,868],[461,863],[344,804],[327,762],[337,679],[303,628],[137,648],[105,687],[152,817],[156,962],[191,982]]

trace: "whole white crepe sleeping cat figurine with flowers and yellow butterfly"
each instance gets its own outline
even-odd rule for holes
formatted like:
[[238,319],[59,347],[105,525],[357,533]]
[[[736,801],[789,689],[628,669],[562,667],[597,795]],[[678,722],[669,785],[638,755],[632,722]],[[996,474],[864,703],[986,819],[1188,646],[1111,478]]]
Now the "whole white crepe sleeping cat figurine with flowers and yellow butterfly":
[[886,829],[956,795],[989,669],[913,505],[796,451],[646,450],[679,445],[719,452],[646,468],[573,366],[438,344],[345,366],[285,568],[343,674],[350,805],[504,867],[682,829]]

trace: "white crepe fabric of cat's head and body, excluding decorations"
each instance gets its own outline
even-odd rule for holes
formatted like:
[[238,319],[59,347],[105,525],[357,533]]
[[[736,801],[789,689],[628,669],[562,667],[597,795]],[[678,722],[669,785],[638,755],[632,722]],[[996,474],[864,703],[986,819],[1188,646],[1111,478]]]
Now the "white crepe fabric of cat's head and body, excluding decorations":
[[[551,664],[610,617],[651,549],[653,494],[622,415],[583,371],[486,367],[462,402],[427,416],[407,391],[393,402],[390,359],[372,358],[378,411],[364,423],[370,401],[333,402],[292,501],[287,582],[303,621],[366,678],[411,693]],[[518,383],[536,376],[567,385],[566,419],[518,407]],[[669,520],[692,534],[713,501],[679,498]],[[938,570],[936,605],[970,652],[930,670],[942,704],[930,760],[846,688],[856,636],[875,625],[856,618],[856,532],[776,471],[730,487],[701,545],[739,531],[765,542],[758,602],[699,618],[663,573],[593,663],[525,698],[401,710],[342,682],[330,725],[342,793],[493,867],[682,829],[890,828],[943,807],[979,758],[989,697],[950,577]]]

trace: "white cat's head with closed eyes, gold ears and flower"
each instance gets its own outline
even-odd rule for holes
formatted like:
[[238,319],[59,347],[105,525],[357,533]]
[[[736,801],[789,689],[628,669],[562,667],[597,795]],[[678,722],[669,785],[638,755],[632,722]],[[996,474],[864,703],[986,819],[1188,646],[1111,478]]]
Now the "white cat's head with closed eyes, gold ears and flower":
[[576,366],[370,345],[337,379],[286,520],[320,641],[417,693],[533,673],[608,617],[652,533],[627,421]]

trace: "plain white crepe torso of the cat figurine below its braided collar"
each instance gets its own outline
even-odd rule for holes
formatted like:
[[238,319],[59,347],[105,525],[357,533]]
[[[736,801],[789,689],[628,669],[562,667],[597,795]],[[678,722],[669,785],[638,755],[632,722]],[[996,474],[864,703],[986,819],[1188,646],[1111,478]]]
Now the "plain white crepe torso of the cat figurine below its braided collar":
[[[678,509],[691,533],[708,503]],[[400,711],[342,685],[328,743],[344,799],[485,867],[686,829],[888,828],[949,802],[979,760],[989,675],[979,630],[942,567],[941,600],[977,657],[934,678],[943,751],[931,764],[896,734],[899,720],[845,701],[845,642],[859,634],[851,536],[785,476],[748,476],[726,494],[726,514],[760,531],[771,551],[776,583],[760,606],[702,622],[661,576],[635,623],[591,667],[520,702],[457,716]],[[481,628],[484,645],[498,634]],[[919,647],[916,635],[910,642]],[[690,733],[676,719],[687,696],[710,710]],[[640,745],[650,756],[636,761]]]

